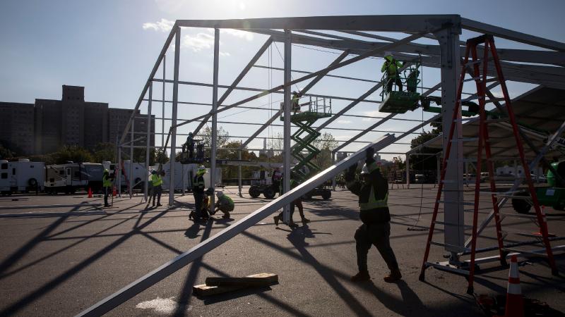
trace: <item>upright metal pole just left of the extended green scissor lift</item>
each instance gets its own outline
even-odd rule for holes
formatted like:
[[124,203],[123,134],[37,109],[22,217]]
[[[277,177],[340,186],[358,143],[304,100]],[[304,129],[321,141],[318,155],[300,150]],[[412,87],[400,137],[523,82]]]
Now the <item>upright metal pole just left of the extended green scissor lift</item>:
[[[284,126],[284,137],[283,148],[283,192],[290,191],[290,85],[287,85],[291,79],[291,66],[292,66],[292,32],[290,30],[285,30],[285,126]],[[290,205],[286,204],[283,208],[283,221],[287,225],[290,224]]]

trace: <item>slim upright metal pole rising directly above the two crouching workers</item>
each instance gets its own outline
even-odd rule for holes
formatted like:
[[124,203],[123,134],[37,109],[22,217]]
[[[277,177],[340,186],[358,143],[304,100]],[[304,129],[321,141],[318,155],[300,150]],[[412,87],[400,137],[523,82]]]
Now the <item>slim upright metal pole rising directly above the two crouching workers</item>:
[[[212,88],[212,149],[210,149],[210,187],[216,187],[216,142],[218,141],[218,67],[220,58],[220,29],[214,29],[214,87]],[[215,195],[210,197],[215,206]]]

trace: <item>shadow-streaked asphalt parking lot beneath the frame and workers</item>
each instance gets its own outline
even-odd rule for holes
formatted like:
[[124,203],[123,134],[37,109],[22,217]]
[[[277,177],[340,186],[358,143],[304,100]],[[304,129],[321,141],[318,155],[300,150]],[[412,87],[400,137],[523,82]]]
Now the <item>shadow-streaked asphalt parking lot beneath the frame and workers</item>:
[[[88,199],[85,194],[2,197],[0,206],[13,209],[0,210],[0,316],[80,313],[268,202],[246,194],[237,197],[236,191],[236,187],[224,189],[236,204],[232,217],[221,219],[217,214],[218,220],[203,225],[188,218],[194,206],[190,194],[178,194],[176,208],[149,210],[145,210],[143,196],[115,198],[114,206],[103,210],[96,206],[42,207],[102,202],[100,197]],[[391,244],[402,282],[382,280],[386,264],[376,249],[369,251],[371,282],[350,282],[350,275],[357,273],[353,234],[360,221],[356,197],[338,189],[327,201],[304,202],[311,220],[308,225],[299,223],[296,230],[285,225],[276,228],[272,216],[268,217],[107,316],[477,316],[480,310],[465,294],[465,278],[428,268],[426,282],[418,280],[435,194],[433,185],[390,191]],[[472,197],[471,192],[467,194]],[[482,198],[481,217],[489,212],[488,207],[489,197]],[[565,213],[545,211],[549,231],[564,236]],[[513,213],[509,207],[503,212]],[[470,223],[470,214],[466,217]],[[298,213],[295,221],[299,221]],[[509,217],[504,225],[535,230],[523,218]],[[442,236],[438,228],[434,240],[441,241]],[[494,237],[491,224],[479,246],[495,245]],[[520,239],[509,237],[509,241]],[[430,260],[444,261],[443,255],[441,247],[432,247]],[[556,259],[561,271],[558,277],[551,275],[545,261],[521,259],[521,286],[525,296],[565,311],[565,256]],[[278,285],[208,298],[191,294],[191,287],[208,276],[263,272],[278,274]],[[483,264],[475,278],[475,292],[505,293],[507,280],[508,268],[496,262]]]

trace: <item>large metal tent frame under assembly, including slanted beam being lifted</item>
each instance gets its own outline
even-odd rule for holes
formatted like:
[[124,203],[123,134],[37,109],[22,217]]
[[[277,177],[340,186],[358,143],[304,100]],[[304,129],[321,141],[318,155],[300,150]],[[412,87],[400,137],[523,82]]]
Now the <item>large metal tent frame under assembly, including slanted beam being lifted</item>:
[[[213,83],[206,84],[206,83],[191,83],[191,82],[180,82],[179,81],[179,62],[180,62],[180,39],[181,39],[181,30],[182,27],[204,27],[204,28],[213,28],[215,30],[215,41],[214,41],[214,59],[213,59]],[[245,30],[248,32],[256,32],[258,34],[268,35],[270,36],[261,49],[258,50],[254,58],[251,58],[251,61],[247,63],[247,65],[243,68],[242,72],[237,76],[237,78],[232,82],[230,86],[227,87],[225,93],[218,99],[218,88],[222,87],[218,83],[218,55],[219,55],[219,30],[223,28],[229,29],[237,29],[237,30]],[[537,85],[545,85],[547,87],[554,87],[554,88],[565,88],[565,70],[562,66],[565,66],[565,44],[561,42],[555,42],[549,39],[544,39],[541,37],[535,37],[533,35],[527,35],[521,32],[516,32],[513,30],[504,29],[502,27],[496,27],[494,25],[488,25],[485,23],[480,23],[474,20],[468,20],[465,18],[461,18],[459,15],[359,15],[359,16],[322,16],[322,17],[300,17],[300,18],[258,18],[258,19],[242,19],[242,20],[177,20],[174,25],[172,26],[172,30],[167,37],[165,44],[163,45],[159,56],[157,57],[157,61],[153,66],[153,69],[150,72],[148,80],[145,82],[145,85],[142,89],[140,97],[136,103],[134,111],[129,119],[129,122],[124,129],[124,134],[121,136],[119,140],[119,147],[121,148],[122,144],[125,144],[126,135],[131,133],[131,140],[133,140],[133,132],[130,132],[130,129],[133,125],[133,120],[136,116],[136,111],[141,106],[142,101],[148,101],[148,116],[151,115],[150,109],[152,108],[153,103],[153,82],[162,82],[163,87],[165,86],[165,82],[172,83],[172,118],[170,118],[172,122],[172,126],[167,134],[167,142],[170,139],[170,159],[172,162],[175,161],[175,152],[177,149],[177,128],[181,125],[185,125],[187,123],[196,122],[200,120],[200,124],[195,132],[198,132],[200,128],[203,127],[204,124],[211,118],[212,120],[212,147],[211,153],[212,157],[210,158],[210,165],[211,165],[211,179],[215,179],[215,151],[216,151],[216,144],[215,139],[217,136],[217,115],[222,111],[227,111],[230,108],[235,107],[245,107],[244,105],[255,99],[260,97],[266,96],[270,93],[283,93],[284,94],[284,174],[285,179],[283,181],[283,187],[286,194],[283,195],[280,199],[276,199],[273,203],[268,204],[261,209],[261,216],[266,216],[270,213],[273,213],[276,209],[279,209],[280,206],[287,205],[291,200],[293,195],[300,195],[303,191],[309,189],[309,186],[314,185],[314,182],[308,182],[308,186],[301,186],[297,187],[292,191],[288,191],[290,189],[290,87],[297,82],[303,82],[304,80],[313,79],[311,85],[313,86],[318,82],[323,76],[328,75],[329,72],[332,70],[341,68],[343,66],[350,65],[357,61],[361,61],[364,58],[369,58],[371,56],[383,56],[385,51],[392,51],[395,56],[398,54],[398,58],[408,59],[414,58],[415,56],[420,55],[421,61],[423,66],[439,68],[441,70],[441,82],[435,85],[434,87],[430,88],[424,94],[431,94],[432,92],[436,91],[437,89],[441,88],[441,100],[442,100],[442,113],[434,116],[433,118],[420,123],[420,125],[416,125],[414,128],[409,129],[408,131],[404,132],[400,135],[400,137],[387,137],[386,141],[381,139],[378,144],[379,150],[383,147],[388,146],[391,142],[396,142],[410,133],[414,132],[417,129],[422,128],[422,126],[429,124],[432,120],[436,120],[438,118],[442,118],[443,129],[444,132],[448,131],[450,125],[452,124],[451,118],[453,114],[453,109],[456,104],[456,84],[458,80],[458,73],[460,72],[460,54],[462,49],[462,44],[464,42],[460,42],[459,35],[464,30],[470,30],[473,32],[478,32],[480,34],[490,34],[494,35],[494,37],[499,37],[503,39],[509,39],[514,42],[519,42],[523,44],[528,44],[530,46],[535,46],[540,49],[533,50],[533,49],[499,49],[499,56],[502,59],[504,75],[506,80],[516,81],[516,82],[529,82]],[[333,33],[326,33],[321,32],[324,30],[333,31]],[[339,35],[335,35],[335,32],[339,32]],[[385,37],[381,35],[376,35],[374,32],[397,32],[397,33],[406,33],[408,36],[403,37],[402,39],[393,39],[391,37]],[[363,37],[364,39],[358,39],[358,37]],[[424,45],[415,43],[416,39],[420,39],[421,37],[427,37],[429,39],[435,39],[438,42],[438,45]],[[155,75],[157,74],[157,70],[160,68],[162,64],[165,64],[165,53],[169,46],[172,44],[174,39],[174,74],[173,80],[166,80],[165,77],[165,67],[163,67],[163,77],[161,79],[156,78]],[[267,47],[270,45],[271,42],[283,42],[284,43],[284,80],[283,84],[272,89],[254,89],[254,88],[246,88],[246,87],[239,87],[239,82],[244,78],[246,73],[255,65],[258,58],[266,51]],[[335,49],[343,51],[343,54],[340,55],[333,63],[331,63],[327,68],[323,68],[321,70],[317,70],[313,73],[307,73],[302,77],[299,77],[295,80],[291,80],[291,46],[292,44],[303,44],[309,46],[319,46],[326,49]],[[549,50],[549,51],[548,51]],[[345,60],[345,56],[355,56]],[[494,68],[490,68],[494,69]],[[494,75],[494,74],[492,74]],[[179,120],[177,118],[177,108],[179,104],[182,104],[182,101],[179,101],[179,94],[178,89],[179,85],[208,85],[212,87],[212,109],[209,113],[203,116],[198,116],[196,118],[191,118],[189,120]],[[307,88],[309,89],[307,86]],[[377,92],[381,88],[380,83],[376,83],[374,87],[369,89],[365,94],[362,94],[357,99],[351,100],[351,103],[345,108],[342,108],[338,113],[335,113],[334,116],[329,118],[328,120],[324,121],[319,125],[316,130],[323,130],[327,128],[331,122],[339,118],[340,116],[344,116],[347,111],[351,108],[355,107],[360,102],[367,101],[367,97]],[[258,94],[242,99],[241,101],[234,102],[229,105],[223,105],[222,103],[225,99],[230,95],[230,93],[235,89],[246,89],[246,90],[254,90],[258,92]],[[306,89],[307,90],[307,89]],[[148,97],[146,97],[148,94]],[[307,95],[307,94],[305,94]],[[147,98],[147,99],[146,99]],[[468,97],[472,99],[473,96]],[[165,120],[165,88],[163,88],[162,93],[162,120]],[[271,125],[275,118],[277,118],[280,113],[276,113],[273,118],[268,120],[264,125],[261,126],[256,132],[254,132],[248,140],[242,142],[242,147],[245,147],[252,139],[258,137],[258,135],[269,125]],[[355,140],[359,139],[363,135],[366,135],[368,132],[374,131],[379,125],[382,125],[387,120],[395,120],[398,118],[396,114],[390,114],[384,118],[381,118],[377,123],[369,126],[367,129],[362,130],[359,132],[358,135],[352,137],[347,142],[344,142],[340,145],[340,149],[347,146]],[[461,134],[461,120],[460,115],[458,116],[458,122],[456,127],[456,133],[460,136]],[[179,121],[182,121],[179,123]],[[132,129],[133,130],[133,129]],[[150,127],[148,127],[147,131],[148,135],[150,134]],[[165,130],[162,130],[162,138],[164,139]],[[445,136],[448,133],[444,133]],[[149,146],[149,137],[147,138],[147,147],[146,149],[150,149]],[[448,142],[444,137],[444,148],[446,147],[446,142]],[[131,142],[131,141],[130,141]],[[133,142],[131,142],[133,144]],[[119,151],[121,153],[121,151]],[[148,153],[148,151],[147,151]],[[446,173],[446,200],[449,201],[461,201],[463,202],[463,188],[462,182],[463,180],[463,166],[460,160],[462,159],[463,153],[462,148],[452,147],[451,148],[451,159],[454,161],[459,161],[458,163],[453,162],[449,164],[449,168]],[[323,181],[319,178],[323,177],[331,177],[334,173],[338,173],[340,170],[347,168],[347,164],[352,164],[354,159],[360,159],[362,155],[360,151],[357,151],[356,154],[350,156],[351,159],[346,159],[342,163],[336,163],[333,167],[328,168],[324,173],[321,173],[319,176],[316,176],[314,179],[316,181]],[[148,160],[146,160],[148,161]],[[171,171],[169,174],[171,178],[170,184],[174,184],[174,164],[171,164]],[[306,184],[306,183],[304,183]],[[459,189],[459,190],[458,190]],[[174,187],[169,189],[169,192],[172,193],[169,195],[169,204],[174,204]],[[298,197],[298,196],[297,196]],[[275,209],[276,207],[276,209]],[[451,204],[453,207],[453,204]],[[447,209],[446,209],[447,210]],[[257,211],[258,212],[258,211]],[[257,215],[257,213],[253,213],[253,215]],[[285,213],[287,215],[287,212]],[[170,263],[165,264],[161,268],[157,268],[154,271],[155,274],[151,275],[151,277],[145,276],[140,280],[133,282],[131,285],[124,287],[124,289],[120,290],[119,292],[112,294],[107,299],[102,300],[101,302],[95,304],[95,306],[90,307],[90,309],[85,310],[82,315],[84,316],[98,316],[110,309],[113,309],[115,306],[121,304],[126,299],[133,297],[138,292],[145,290],[150,285],[155,284],[162,278],[170,275],[174,271],[177,271],[182,266],[186,265],[190,261],[187,259],[194,259],[196,254],[200,256],[215,247],[218,247],[221,243],[225,242],[226,240],[230,239],[234,236],[234,232],[241,232],[249,226],[256,223],[258,220],[261,220],[260,216],[248,216],[238,223],[230,226],[226,230],[222,230],[219,232],[218,235],[215,237],[223,237],[221,239],[213,240],[214,237],[211,237],[210,240],[213,241],[220,241],[218,243],[211,242],[206,244],[207,247],[198,245],[195,248],[187,251],[182,259],[179,258],[172,260]],[[287,218],[286,218],[287,220]],[[446,212],[446,221],[450,223],[458,223],[459,227],[450,226],[450,228],[446,228],[445,230],[445,240],[446,244],[452,245],[459,245],[463,246],[464,244],[464,235],[463,235],[463,205],[455,206],[454,208],[450,208],[449,212]],[[231,232],[231,233],[230,233]],[[235,233],[237,234],[237,233]],[[208,242],[208,240],[207,240]],[[188,256],[188,258],[186,257]]]

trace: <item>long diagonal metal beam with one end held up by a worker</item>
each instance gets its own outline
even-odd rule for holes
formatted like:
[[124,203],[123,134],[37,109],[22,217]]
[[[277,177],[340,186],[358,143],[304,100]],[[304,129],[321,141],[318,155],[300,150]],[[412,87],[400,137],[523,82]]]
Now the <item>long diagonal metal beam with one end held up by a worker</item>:
[[97,302],[97,304],[94,304],[88,309],[81,311],[81,313],[78,313],[77,316],[102,316],[104,313],[111,311],[119,304],[126,302],[126,300],[128,299],[131,299],[131,297],[135,296],[136,294],[143,292],[143,290],[148,289],[148,287],[154,285],[155,283],[166,278],[179,269],[184,268],[184,266],[188,265],[192,261],[201,258],[201,256],[219,247],[224,242],[232,239],[232,237],[235,237],[236,235],[239,235],[239,233],[244,232],[247,228],[250,228],[252,225],[255,225],[259,221],[275,213],[279,209],[283,208],[283,206],[287,206],[292,201],[295,201],[295,199],[302,197],[302,195],[321,185],[326,180],[335,177],[343,170],[349,168],[353,164],[356,164],[357,161],[364,159],[365,150],[367,148],[373,147],[375,151],[378,152],[379,150],[384,149],[389,144],[394,142],[394,140],[395,137],[393,135],[385,135],[381,137],[375,143],[367,145],[367,147],[360,149],[355,154],[347,156],[347,158],[345,158],[343,161],[335,163],[333,166],[326,168],[326,170],[323,170],[321,173],[314,175],[313,178],[310,178],[306,182],[298,185],[294,189],[290,190],[290,192],[286,192],[277,199],[270,201],[268,204],[262,206],[257,211],[250,213],[249,215],[233,223],[224,230],[218,232],[212,237],[209,237],[207,240],[204,240],[203,242],[197,244],[195,247],[192,247],[191,249],[189,249],[189,251],[180,254],[171,261],[168,261],[159,268],[156,268],[150,273],[144,275],[142,278],[139,278],[138,280],[132,282],[126,287],[123,287],[121,290],[115,292],[109,297],[106,297],[100,302]]

